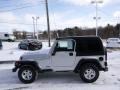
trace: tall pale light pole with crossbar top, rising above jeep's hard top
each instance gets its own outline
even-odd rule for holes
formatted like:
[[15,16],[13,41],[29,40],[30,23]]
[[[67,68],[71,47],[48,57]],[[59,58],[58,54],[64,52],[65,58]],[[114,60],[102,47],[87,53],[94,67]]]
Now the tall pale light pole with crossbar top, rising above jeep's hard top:
[[103,3],[103,1],[95,0],[95,1],[92,1],[91,3],[92,4],[95,3],[95,6],[96,6],[96,17],[94,19],[96,20],[96,36],[98,36],[98,19],[100,19],[100,17],[98,17],[98,3]]

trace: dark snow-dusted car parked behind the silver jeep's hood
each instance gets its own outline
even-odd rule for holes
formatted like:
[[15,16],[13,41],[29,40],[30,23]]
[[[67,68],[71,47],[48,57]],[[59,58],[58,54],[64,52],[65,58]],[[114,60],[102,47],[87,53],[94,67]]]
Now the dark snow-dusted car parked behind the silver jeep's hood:
[[23,50],[39,50],[42,48],[42,42],[35,39],[25,39],[19,43],[18,48]]

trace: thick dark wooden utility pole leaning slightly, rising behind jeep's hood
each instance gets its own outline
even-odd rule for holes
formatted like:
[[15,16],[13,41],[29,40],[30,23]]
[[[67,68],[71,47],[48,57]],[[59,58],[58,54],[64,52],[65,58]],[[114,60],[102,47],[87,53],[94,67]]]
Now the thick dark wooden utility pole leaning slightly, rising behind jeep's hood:
[[50,21],[49,21],[49,10],[48,10],[48,0],[45,0],[45,6],[46,6],[46,16],[47,16],[47,29],[48,29],[48,46],[51,46],[50,43]]

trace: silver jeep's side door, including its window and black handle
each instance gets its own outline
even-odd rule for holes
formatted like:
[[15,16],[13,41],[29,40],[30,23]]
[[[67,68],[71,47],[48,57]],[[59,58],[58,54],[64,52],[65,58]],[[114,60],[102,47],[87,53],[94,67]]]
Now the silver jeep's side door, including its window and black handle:
[[52,55],[53,67],[65,69],[72,67],[75,61],[75,41],[71,39],[58,40]]

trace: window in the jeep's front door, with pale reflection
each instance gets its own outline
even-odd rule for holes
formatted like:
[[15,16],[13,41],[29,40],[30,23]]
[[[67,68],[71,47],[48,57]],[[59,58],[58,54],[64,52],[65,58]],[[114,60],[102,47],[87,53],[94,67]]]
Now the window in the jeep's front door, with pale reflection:
[[56,47],[57,51],[74,51],[73,40],[59,40]]

